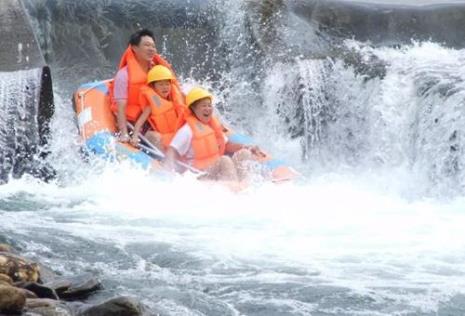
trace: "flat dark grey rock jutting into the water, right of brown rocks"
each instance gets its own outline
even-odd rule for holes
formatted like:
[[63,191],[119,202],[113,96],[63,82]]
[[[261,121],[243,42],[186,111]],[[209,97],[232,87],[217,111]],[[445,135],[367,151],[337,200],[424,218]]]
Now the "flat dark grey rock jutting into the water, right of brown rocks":
[[55,290],[58,297],[67,299],[87,296],[101,288],[100,281],[90,273],[61,277],[44,285]]

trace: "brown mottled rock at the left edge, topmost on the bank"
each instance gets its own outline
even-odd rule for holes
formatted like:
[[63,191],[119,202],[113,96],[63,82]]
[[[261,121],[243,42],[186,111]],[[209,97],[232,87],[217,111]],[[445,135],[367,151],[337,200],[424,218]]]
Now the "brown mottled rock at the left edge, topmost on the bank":
[[0,252],[0,273],[8,275],[13,281],[37,282],[40,278],[36,263],[7,252]]

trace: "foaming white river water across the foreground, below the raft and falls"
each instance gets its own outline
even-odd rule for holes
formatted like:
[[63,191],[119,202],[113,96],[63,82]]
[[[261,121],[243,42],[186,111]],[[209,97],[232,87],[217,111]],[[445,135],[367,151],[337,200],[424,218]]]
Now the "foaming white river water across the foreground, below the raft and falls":
[[134,295],[163,315],[459,315],[463,199],[385,185],[326,175],[237,194],[108,166],[66,186],[11,181],[2,236],[97,274],[94,299]]

